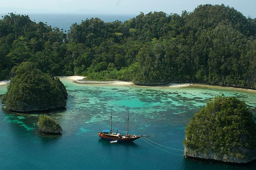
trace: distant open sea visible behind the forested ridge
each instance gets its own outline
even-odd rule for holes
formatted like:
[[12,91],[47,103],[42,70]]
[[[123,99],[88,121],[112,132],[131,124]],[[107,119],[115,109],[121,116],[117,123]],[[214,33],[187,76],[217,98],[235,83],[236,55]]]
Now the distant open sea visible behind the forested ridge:
[[[4,16],[6,14],[1,14],[0,16]],[[59,29],[63,29],[64,31],[70,30],[70,26],[73,23],[78,23],[80,24],[82,20],[86,20],[87,18],[96,18],[98,17],[99,19],[103,20],[105,23],[106,22],[113,22],[115,20],[119,21],[126,21],[130,20],[133,17],[136,17],[136,14],[26,14],[29,15],[29,18],[32,21],[35,21],[36,23],[38,22],[43,22],[46,23],[48,26],[58,27]]]

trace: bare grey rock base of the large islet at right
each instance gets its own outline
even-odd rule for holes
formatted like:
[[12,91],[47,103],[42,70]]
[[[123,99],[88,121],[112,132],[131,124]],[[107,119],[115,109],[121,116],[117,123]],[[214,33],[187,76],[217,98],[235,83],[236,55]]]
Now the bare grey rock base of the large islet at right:
[[256,151],[243,150],[243,153],[244,155],[246,155],[245,158],[239,158],[235,155],[227,155],[227,154],[221,155],[219,153],[214,153],[214,152],[200,153],[188,147],[184,148],[184,156],[190,157],[190,158],[201,158],[201,159],[222,161],[222,162],[228,162],[228,163],[237,163],[237,164],[244,164],[244,163],[248,163],[256,160]]

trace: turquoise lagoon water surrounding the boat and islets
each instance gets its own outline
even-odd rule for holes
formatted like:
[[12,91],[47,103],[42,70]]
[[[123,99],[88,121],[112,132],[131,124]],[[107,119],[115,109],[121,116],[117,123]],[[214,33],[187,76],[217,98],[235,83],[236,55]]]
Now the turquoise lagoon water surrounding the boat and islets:
[[[67,86],[67,109],[48,113],[60,122],[61,136],[38,132],[40,113],[12,113],[0,108],[0,169],[256,169],[255,162],[230,165],[182,156],[185,126],[210,98],[221,93],[237,96],[255,112],[253,91],[195,86],[88,86],[65,78],[62,81]],[[0,94],[5,91],[6,86],[0,86]],[[97,136],[98,131],[109,127],[111,108],[113,129],[125,130],[127,106],[130,133],[150,135],[148,139],[160,145],[146,139],[110,144]]]

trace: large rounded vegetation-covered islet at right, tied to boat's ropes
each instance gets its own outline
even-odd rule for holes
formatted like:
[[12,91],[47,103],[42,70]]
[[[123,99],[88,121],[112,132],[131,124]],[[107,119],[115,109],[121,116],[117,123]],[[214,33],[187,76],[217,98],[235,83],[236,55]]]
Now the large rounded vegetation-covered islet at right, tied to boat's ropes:
[[184,156],[230,163],[256,160],[255,120],[243,101],[216,97],[186,126]]

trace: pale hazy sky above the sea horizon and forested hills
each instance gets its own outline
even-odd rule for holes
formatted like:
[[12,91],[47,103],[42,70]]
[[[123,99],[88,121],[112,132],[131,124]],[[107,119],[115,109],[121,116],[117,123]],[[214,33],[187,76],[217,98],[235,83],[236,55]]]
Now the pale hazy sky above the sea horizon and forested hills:
[[224,4],[256,18],[256,0],[0,0],[0,13],[167,14],[193,12],[200,4]]

